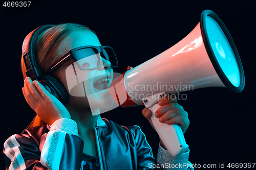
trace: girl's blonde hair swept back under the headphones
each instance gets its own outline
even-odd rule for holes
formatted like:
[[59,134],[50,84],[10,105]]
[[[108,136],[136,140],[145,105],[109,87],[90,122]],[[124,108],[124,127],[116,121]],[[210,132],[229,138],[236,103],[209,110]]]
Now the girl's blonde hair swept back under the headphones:
[[[66,53],[63,49],[63,40],[65,40],[65,38],[71,35],[74,31],[82,29],[92,31],[89,27],[78,23],[63,23],[42,32],[37,36],[35,41],[35,54],[37,56],[37,64],[40,66],[42,74],[46,74],[47,69]],[[25,79],[27,76],[23,58],[21,60],[21,68],[23,78]],[[57,73],[54,72],[54,74]],[[40,125],[46,125],[46,123],[38,115],[35,115],[27,128]]]

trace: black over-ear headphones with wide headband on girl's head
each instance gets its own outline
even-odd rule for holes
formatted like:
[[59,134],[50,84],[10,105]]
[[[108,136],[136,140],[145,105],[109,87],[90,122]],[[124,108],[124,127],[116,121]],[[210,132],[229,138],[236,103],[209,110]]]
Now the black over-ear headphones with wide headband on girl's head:
[[26,66],[26,75],[32,80],[41,83],[52,95],[54,95],[63,105],[68,101],[68,93],[65,87],[53,76],[43,75],[41,68],[37,64],[35,54],[35,41],[37,36],[55,25],[44,25],[30,32],[23,41],[22,57]]

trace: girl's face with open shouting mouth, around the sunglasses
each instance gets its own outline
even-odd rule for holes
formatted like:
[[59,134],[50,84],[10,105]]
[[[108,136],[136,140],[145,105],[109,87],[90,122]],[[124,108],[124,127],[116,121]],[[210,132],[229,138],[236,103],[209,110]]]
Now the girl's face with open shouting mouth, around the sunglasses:
[[[64,40],[62,47],[68,52],[85,45],[101,46],[98,37],[87,29],[72,33]],[[110,61],[101,57],[100,66],[92,70],[81,70],[74,61],[72,59],[63,64],[58,74],[58,79],[69,93],[67,104],[76,108],[90,107],[92,112],[110,108],[114,104],[108,90],[113,79]]]

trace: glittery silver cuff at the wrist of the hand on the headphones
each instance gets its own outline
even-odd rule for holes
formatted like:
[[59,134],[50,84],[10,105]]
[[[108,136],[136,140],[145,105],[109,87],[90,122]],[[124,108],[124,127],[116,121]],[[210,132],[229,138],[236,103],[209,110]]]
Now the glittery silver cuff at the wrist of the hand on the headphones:
[[50,131],[63,131],[70,135],[78,136],[77,124],[74,120],[70,118],[61,118],[56,120],[52,124]]

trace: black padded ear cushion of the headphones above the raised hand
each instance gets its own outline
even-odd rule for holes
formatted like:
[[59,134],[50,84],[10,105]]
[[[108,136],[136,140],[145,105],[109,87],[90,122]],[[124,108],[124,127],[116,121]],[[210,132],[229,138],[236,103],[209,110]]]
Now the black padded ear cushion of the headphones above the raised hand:
[[55,77],[51,75],[43,75],[39,82],[49,83],[52,89],[56,91],[56,94],[59,96],[59,100],[62,104],[66,104],[68,102],[68,93],[65,87]]

